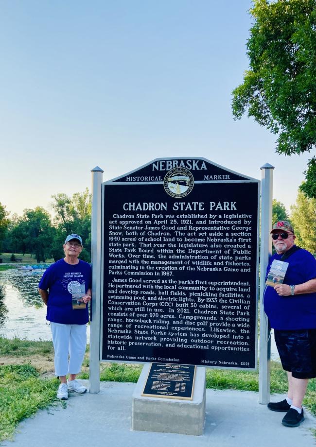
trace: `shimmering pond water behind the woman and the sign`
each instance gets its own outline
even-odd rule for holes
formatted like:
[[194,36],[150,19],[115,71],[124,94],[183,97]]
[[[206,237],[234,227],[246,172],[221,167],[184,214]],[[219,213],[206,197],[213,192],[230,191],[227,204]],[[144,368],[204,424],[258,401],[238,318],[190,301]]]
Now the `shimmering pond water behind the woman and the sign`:
[[[38,293],[42,275],[43,271],[21,272],[18,269],[0,272],[0,335],[52,340],[51,328],[46,325],[46,306]],[[279,359],[273,333],[271,359]]]

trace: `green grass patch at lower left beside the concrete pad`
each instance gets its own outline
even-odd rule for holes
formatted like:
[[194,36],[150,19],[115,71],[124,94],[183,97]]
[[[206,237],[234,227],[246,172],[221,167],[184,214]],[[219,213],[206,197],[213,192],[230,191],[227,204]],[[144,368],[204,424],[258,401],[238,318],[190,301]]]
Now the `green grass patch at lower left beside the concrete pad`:
[[0,441],[11,439],[18,423],[56,400],[58,380],[41,379],[31,365],[0,366]]

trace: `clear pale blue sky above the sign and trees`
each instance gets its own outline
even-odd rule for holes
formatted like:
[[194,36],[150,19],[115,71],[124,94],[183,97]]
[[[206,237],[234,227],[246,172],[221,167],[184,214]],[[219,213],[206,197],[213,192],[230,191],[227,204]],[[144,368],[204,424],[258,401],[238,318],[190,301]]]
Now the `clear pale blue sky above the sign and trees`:
[[261,179],[294,204],[311,154],[234,121],[248,68],[250,0],[1,0],[0,203],[51,209],[159,157],[205,157]]

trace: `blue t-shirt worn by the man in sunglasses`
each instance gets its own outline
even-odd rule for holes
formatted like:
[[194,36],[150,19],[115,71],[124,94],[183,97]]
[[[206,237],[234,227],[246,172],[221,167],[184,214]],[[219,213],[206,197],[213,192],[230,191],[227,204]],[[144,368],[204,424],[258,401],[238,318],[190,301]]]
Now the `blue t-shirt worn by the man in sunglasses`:
[[[273,255],[267,267],[270,271],[272,261],[280,260],[282,255]],[[316,278],[316,259],[307,250],[299,249],[284,262],[288,262],[283,284],[303,284]],[[264,311],[271,327],[279,330],[298,330],[316,328],[316,293],[279,296],[271,286],[266,286],[263,298]]]

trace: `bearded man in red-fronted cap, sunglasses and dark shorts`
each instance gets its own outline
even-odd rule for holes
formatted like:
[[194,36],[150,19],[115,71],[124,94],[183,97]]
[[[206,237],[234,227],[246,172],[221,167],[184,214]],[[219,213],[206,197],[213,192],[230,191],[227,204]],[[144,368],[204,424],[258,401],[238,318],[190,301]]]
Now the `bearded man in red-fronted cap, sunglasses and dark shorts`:
[[282,284],[267,286],[264,310],[271,327],[282,367],[287,371],[288,393],[281,402],[268,408],[286,412],[282,424],[298,427],[304,420],[302,401],[309,378],[316,377],[316,259],[295,245],[292,225],[280,221],[273,225],[272,242],[276,254],[270,259],[288,263]]

